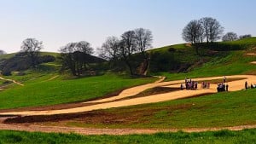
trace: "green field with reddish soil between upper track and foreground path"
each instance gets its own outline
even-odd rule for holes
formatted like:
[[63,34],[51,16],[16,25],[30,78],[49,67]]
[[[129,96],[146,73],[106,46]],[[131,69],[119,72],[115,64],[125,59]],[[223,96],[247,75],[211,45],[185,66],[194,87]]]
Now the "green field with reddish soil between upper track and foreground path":
[[72,119],[61,124],[114,129],[183,129],[256,124],[255,92],[256,89],[247,89],[176,101],[98,110],[93,112],[95,115],[89,113],[84,119]]

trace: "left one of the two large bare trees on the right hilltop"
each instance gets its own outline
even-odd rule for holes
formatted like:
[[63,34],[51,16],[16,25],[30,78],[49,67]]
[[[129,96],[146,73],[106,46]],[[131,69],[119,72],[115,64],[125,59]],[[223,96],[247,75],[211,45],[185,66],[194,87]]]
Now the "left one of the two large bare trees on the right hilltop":
[[195,46],[196,54],[199,54],[197,43],[201,43],[204,39],[204,30],[199,20],[191,20],[187,26],[183,28],[183,39]]

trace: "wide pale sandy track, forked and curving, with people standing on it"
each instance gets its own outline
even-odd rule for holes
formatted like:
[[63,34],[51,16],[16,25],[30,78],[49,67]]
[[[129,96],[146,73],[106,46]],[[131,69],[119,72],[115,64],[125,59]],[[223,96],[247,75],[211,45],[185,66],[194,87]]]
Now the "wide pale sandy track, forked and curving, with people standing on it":
[[[220,78],[223,78],[223,77],[194,78],[193,80],[201,81],[201,80],[212,80],[212,79],[220,79]],[[256,76],[253,76],[253,75],[235,75],[235,76],[226,76],[226,78],[227,79],[246,78],[243,80],[236,80],[236,81],[229,82],[229,85],[230,85],[229,91],[244,89],[245,81],[247,81],[248,84],[256,83]],[[212,84],[211,89],[178,90],[178,91],[173,91],[165,94],[149,95],[145,97],[132,98],[132,99],[123,100],[123,101],[114,101],[114,100],[119,100],[121,98],[125,98],[127,96],[137,95],[138,93],[142,92],[145,89],[150,89],[158,86],[179,88],[180,84],[183,82],[184,82],[183,80],[177,80],[177,81],[171,81],[171,82],[140,85],[131,89],[125,89],[119,95],[111,98],[102,99],[99,101],[89,101],[89,102],[106,102],[106,103],[91,105],[87,107],[75,107],[75,108],[49,110],[49,111],[2,112],[0,113],[0,115],[32,116],[32,115],[54,115],[54,114],[74,113],[74,112],[88,112],[88,111],[97,110],[97,109],[107,109],[112,107],[126,107],[126,106],[154,103],[154,102],[160,102],[160,101],[170,101],[170,100],[192,97],[195,95],[215,93],[217,91],[216,85]],[[108,101],[112,101],[112,102],[108,102]]]

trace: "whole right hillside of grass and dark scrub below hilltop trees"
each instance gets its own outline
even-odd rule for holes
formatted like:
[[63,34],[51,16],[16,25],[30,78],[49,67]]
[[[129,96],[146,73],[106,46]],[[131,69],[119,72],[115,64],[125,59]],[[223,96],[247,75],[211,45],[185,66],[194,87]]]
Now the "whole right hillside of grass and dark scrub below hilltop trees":
[[[151,72],[171,79],[255,74],[256,66],[250,62],[255,61],[256,57],[247,53],[256,52],[256,37],[220,42],[215,46],[218,47],[201,48],[201,55],[196,55],[195,49],[189,44],[152,49]],[[154,67],[160,71],[155,72]]]

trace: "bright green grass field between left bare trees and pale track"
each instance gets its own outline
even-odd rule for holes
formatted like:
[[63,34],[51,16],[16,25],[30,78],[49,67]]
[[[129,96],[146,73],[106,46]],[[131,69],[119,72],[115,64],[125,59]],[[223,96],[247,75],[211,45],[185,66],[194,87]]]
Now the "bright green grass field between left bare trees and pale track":
[[[113,74],[98,77],[63,80],[43,80],[45,75],[25,86],[15,86],[0,93],[0,109],[49,106],[74,101],[86,101],[119,89],[147,84],[156,78],[124,78]],[[39,80],[38,80],[39,79]]]

